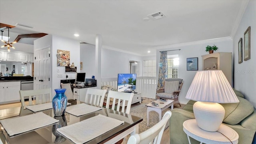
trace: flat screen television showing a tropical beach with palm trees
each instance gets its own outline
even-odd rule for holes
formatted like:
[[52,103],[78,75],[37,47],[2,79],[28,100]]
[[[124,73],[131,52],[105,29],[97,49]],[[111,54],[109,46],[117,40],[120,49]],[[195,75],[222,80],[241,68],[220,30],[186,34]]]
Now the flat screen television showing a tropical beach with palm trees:
[[118,74],[118,92],[132,92],[136,89],[136,74]]

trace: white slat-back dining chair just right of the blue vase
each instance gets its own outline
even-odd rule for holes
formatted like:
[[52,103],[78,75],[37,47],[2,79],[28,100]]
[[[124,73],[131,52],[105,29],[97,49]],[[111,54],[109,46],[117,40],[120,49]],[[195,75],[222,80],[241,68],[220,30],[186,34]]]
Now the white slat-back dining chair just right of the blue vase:
[[107,90],[88,88],[84,102],[102,107],[106,92]]

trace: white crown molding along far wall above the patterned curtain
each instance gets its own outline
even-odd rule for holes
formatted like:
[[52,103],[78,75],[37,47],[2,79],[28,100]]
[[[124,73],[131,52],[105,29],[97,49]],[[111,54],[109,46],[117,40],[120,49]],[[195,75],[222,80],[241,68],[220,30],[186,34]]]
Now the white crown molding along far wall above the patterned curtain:
[[211,42],[222,42],[222,41],[227,41],[227,40],[232,40],[232,38],[230,38],[230,36],[228,36],[228,37],[224,37],[224,38],[214,38],[214,39],[209,39],[209,40],[200,40],[200,41],[196,41],[196,42],[186,42],[186,43],[181,43],[181,44],[157,46],[155,48],[156,48],[156,50],[158,50],[158,49],[165,49],[165,48],[177,48],[177,47],[182,47],[182,46],[206,44],[206,43],[211,43]]

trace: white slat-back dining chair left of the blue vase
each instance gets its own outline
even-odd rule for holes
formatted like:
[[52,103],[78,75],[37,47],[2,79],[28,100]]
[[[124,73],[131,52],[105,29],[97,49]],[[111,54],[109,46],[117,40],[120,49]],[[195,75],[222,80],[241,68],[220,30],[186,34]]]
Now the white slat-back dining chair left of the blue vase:
[[[28,98],[28,106],[52,102],[52,89],[20,90],[21,106],[26,106],[25,99]],[[34,98],[32,100],[32,97]]]

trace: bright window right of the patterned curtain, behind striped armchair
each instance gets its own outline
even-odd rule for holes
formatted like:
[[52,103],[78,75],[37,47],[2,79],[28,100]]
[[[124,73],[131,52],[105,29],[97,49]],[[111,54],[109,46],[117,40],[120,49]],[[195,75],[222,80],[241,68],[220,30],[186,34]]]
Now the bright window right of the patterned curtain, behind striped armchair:
[[167,78],[178,78],[179,58],[178,55],[168,55],[168,76]]

